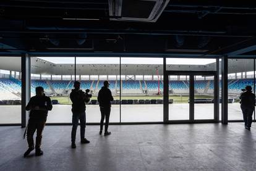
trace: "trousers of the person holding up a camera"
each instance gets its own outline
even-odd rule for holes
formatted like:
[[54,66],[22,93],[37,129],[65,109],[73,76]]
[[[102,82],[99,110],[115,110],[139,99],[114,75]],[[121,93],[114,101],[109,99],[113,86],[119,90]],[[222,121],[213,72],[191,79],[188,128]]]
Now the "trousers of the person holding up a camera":
[[75,135],[77,134],[77,126],[79,125],[80,120],[80,138],[83,140],[85,138],[85,123],[86,116],[85,112],[73,112],[72,115],[72,131],[71,131],[71,141],[75,143]]

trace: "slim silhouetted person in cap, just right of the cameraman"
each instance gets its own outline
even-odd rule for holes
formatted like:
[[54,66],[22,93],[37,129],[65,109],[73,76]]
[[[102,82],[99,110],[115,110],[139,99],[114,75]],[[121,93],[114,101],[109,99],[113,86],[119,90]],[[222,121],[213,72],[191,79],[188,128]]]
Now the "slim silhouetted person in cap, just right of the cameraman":
[[111,101],[113,101],[113,96],[111,91],[109,90],[109,82],[104,81],[104,86],[98,93],[98,102],[100,103],[100,112],[101,112],[101,120],[100,120],[100,135],[103,130],[103,122],[106,117],[105,122],[105,133],[104,135],[110,135],[111,132],[108,131],[108,123],[109,123],[109,115],[111,111]]

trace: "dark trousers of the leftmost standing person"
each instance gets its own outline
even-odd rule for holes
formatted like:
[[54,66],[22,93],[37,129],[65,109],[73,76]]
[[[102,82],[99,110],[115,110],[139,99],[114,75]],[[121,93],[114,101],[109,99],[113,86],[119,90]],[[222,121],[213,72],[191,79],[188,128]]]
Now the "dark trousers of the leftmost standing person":
[[28,148],[34,148],[33,136],[36,131],[36,144],[35,148],[38,149],[41,146],[43,128],[45,128],[45,119],[29,119],[27,128],[27,141]]

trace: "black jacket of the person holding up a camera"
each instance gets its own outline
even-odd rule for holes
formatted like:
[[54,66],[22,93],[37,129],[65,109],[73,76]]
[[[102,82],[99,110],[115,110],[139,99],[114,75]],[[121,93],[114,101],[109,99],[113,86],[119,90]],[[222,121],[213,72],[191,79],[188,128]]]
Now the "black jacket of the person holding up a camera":
[[72,89],[70,93],[70,99],[72,101],[72,112],[85,112],[85,102],[90,101],[90,98],[85,96],[85,92],[82,90]]

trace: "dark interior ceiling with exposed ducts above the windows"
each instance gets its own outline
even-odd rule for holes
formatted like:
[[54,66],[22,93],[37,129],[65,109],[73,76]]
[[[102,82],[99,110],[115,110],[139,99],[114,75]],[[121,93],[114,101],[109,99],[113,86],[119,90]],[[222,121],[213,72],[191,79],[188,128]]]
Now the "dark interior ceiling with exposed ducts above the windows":
[[216,0],[0,1],[0,54],[254,57],[255,7]]

